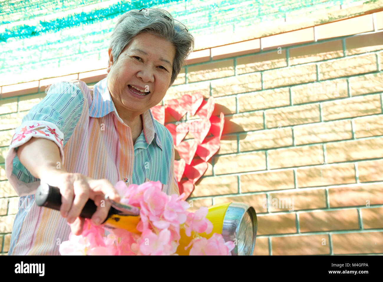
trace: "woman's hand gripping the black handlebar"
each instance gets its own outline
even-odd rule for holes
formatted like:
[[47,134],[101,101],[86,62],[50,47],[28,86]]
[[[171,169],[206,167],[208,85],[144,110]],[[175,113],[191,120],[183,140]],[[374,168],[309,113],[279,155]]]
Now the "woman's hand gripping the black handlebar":
[[115,187],[107,179],[96,180],[80,173],[68,173],[62,169],[52,168],[44,171],[40,180],[41,183],[48,183],[60,189],[61,215],[67,218],[68,223],[73,223],[70,228],[76,236],[81,235],[83,230],[85,219],[79,215],[88,199],[92,199],[97,206],[92,216],[95,225],[101,224],[108,215],[110,204],[105,201],[105,195],[108,194],[117,202],[120,200]]

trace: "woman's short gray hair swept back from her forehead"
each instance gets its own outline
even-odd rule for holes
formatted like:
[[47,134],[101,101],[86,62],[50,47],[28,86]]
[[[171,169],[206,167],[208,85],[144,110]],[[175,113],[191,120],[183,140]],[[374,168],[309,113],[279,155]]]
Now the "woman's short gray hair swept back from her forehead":
[[[169,21],[164,16],[169,17]],[[170,86],[186,64],[187,56],[194,49],[194,37],[185,27],[173,21],[172,15],[163,9],[130,10],[117,21],[109,48],[112,49],[113,60],[116,62],[123,49],[140,33],[151,33],[172,42],[175,47],[172,78]]]

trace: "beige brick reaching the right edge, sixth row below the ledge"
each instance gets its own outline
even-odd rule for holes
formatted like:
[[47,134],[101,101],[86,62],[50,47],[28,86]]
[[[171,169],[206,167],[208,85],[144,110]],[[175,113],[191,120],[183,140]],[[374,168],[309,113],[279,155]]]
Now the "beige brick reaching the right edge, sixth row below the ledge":
[[383,157],[383,138],[327,143],[327,163]]

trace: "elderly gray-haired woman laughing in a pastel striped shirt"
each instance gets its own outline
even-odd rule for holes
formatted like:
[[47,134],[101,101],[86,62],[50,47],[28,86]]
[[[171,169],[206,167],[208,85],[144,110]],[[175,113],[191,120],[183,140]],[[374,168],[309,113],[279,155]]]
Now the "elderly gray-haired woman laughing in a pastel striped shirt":
[[[120,180],[160,181],[162,191],[179,194],[172,135],[150,108],[193,47],[193,36],[165,10],[131,10],[113,31],[106,78],[93,89],[78,80],[51,85],[16,129],[6,158],[20,196],[8,254],[59,254],[71,230],[82,233],[79,215],[89,198],[97,204],[92,222],[106,219],[110,205],[101,200],[106,194],[120,200],[114,188]],[[40,183],[59,187],[60,211],[35,204]]]

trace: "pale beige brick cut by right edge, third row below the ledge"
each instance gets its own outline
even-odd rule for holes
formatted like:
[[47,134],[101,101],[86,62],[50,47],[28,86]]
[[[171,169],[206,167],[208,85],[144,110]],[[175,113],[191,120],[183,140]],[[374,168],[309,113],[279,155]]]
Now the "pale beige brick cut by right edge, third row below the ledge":
[[383,73],[371,73],[358,77],[350,77],[349,82],[351,96],[383,92]]

